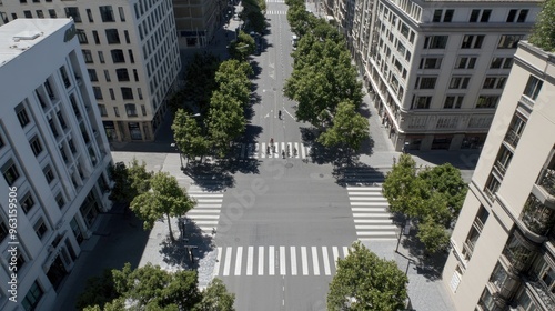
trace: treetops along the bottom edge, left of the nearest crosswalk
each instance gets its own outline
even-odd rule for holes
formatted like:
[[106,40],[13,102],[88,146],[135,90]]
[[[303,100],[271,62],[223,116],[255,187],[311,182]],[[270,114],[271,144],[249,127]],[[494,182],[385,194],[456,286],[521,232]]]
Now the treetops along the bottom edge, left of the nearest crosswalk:
[[75,307],[84,311],[233,311],[234,301],[235,294],[220,279],[199,291],[196,271],[168,272],[150,263],[131,269],[125,263],[121,270],[105,270],[102,277],[87,280]]

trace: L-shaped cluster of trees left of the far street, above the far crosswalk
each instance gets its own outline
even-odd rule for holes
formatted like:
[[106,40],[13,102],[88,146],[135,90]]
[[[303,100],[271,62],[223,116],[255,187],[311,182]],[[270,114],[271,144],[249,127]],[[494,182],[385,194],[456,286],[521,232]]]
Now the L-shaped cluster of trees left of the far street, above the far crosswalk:
[[195,116],[178,109],[172,124],[173,137],[181,153],[189,159],[215,153],[224,157],[232,141],[246,127],[245,109],[250,102],[251,66],[236,59],[220,63],[214,73],[208,116]]

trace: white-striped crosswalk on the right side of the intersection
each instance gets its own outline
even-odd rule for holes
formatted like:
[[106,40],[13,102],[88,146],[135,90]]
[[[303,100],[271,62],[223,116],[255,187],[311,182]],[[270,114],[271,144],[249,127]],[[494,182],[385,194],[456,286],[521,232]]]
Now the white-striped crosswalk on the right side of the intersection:
[[382,185],[347,187],[347,192],[359,240],[396,239],[397,227],[392,222]]

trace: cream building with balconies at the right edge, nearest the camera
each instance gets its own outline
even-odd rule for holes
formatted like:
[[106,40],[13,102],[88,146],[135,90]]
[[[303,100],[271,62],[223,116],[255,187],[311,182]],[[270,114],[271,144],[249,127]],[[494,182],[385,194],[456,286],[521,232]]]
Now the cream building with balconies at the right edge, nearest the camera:
[[555,54],[521,42],[452,235],[457,310],[555,310]]

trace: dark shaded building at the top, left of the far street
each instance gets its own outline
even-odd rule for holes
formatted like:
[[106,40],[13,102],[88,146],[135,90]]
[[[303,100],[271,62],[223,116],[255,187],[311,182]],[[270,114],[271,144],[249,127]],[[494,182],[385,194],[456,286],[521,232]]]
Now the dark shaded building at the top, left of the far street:
[[209,46],[223,24],[226,9],[226,0],[173,0],[180,49]]

